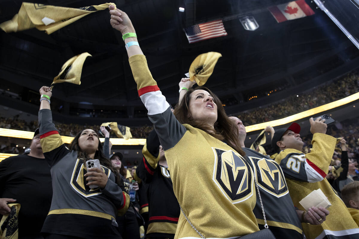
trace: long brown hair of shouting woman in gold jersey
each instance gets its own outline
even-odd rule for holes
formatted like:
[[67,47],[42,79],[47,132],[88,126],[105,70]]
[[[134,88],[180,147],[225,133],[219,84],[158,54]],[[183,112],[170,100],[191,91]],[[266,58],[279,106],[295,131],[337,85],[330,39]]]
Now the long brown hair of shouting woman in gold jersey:
[[[195,90],[207,91],[213,97],[213,101],[217,105],[217,121],[214,124],[214,132],[210,125],[201,121],[196,121],[190,115],[190,95]],[[236,150],[239,154],[241,154],[243,157],[246,155],[246,153],[244,153],[242,150],[241,145],[238,143],[237,126],[233,123],[232,120],[228,118],[228,115],[225,113],[223,108],[222,101],[220,101],[218,96],[213,94],[213,92],[211,92],[206,87],[197,86],[195,89],[189,89],[185,96],[183,96],[183,99],[178,102],[176,108],[174,109],[174,116],[176,116],[176,119],[180,121],[181,124],[189,124],[192,127],[205,131],[216,139],[226,140],[227,144]]]

